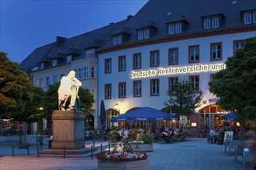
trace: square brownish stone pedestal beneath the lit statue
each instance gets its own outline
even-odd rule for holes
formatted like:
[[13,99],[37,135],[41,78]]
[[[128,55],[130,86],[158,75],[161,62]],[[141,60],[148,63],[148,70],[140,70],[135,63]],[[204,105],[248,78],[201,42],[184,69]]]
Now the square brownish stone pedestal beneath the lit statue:
[[85,148],[85,114],[82,111],[54,110],[52,149]]

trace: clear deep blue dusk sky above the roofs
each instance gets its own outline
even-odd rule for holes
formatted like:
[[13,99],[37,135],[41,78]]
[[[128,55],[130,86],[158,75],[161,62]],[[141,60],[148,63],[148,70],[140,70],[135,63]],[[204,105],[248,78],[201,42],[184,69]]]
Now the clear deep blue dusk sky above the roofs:
[[135,15],[148,0],[0,0],[0,51],[21,63],[36,48]]

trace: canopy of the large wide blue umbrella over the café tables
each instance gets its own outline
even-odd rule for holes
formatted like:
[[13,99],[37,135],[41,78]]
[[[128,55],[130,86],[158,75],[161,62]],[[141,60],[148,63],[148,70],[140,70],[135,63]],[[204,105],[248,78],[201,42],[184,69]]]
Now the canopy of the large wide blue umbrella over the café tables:
[[175,115],[151,107],[141,107],[126,114],[112,117],[110,121],[161,121],[176,119]]

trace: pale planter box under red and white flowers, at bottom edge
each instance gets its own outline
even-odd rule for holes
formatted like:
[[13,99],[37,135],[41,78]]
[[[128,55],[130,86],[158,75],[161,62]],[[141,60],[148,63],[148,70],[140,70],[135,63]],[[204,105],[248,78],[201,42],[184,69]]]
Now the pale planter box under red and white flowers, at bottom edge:
[[133,170],[146,170],[149,169],[148,160],[140,160],[134,162],[100,162],[98,161],[99,170],[117,170],[117,169],[133,169]]

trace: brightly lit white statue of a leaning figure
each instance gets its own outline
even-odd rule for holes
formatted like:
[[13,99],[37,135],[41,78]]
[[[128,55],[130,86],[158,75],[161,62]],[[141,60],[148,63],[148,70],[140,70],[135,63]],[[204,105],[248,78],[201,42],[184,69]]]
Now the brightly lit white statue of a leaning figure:
[[[58,89],[59,110],[78,110],[78,89],[81,87],[81,81],[75,77],[75,72],[71,70],[67,76],[61,78],[61,85]],[[71,102],[66,107],[68,98]]]

